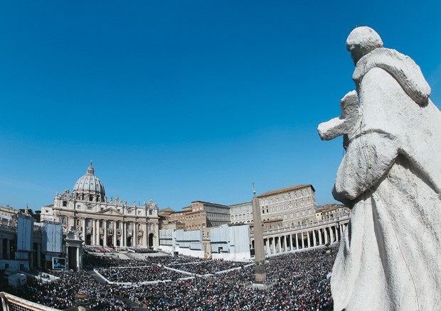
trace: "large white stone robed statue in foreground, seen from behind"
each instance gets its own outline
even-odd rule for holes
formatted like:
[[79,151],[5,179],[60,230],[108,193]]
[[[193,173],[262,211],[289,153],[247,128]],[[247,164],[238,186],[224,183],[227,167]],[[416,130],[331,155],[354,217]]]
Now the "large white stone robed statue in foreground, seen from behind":
[[332,194],[352,208],[331,277],[334,310],[440,310],[441,114],[406,55],[355,28],[356,91],[319,125],[344,136]]

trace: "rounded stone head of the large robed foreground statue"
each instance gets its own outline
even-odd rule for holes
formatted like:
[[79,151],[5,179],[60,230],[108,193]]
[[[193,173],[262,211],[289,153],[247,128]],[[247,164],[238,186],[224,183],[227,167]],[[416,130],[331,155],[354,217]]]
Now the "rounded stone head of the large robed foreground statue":
[[354,65],[356,65],[360,58],[371,53],[376,48],[383,48],[383,40],[370,27],[357,27],[349,33],[346,39],[346,49],[351,52]]

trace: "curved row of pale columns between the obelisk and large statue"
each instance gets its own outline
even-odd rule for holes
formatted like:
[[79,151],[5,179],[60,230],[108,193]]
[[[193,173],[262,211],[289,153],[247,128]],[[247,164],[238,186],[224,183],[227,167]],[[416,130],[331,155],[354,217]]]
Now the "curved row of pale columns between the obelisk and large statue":
[[345,224],[335,223],[327,227],[316,227],[299,232],[283,232],[280,234],[265,234],[263,245],[267,255],[284,253],[296,249],[308,249],[315,246],[332,244],[341,240]]

